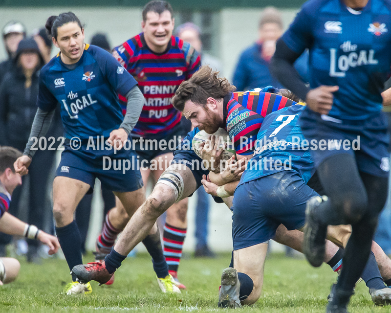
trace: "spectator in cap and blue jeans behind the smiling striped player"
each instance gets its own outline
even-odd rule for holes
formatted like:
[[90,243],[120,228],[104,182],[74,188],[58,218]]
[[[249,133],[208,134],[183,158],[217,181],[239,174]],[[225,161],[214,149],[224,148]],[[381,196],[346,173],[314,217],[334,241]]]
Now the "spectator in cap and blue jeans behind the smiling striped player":
[[[209,65],[214,70],[220,71],[220,61],[202,52],[202,42],[200,39],[200,29],[197,25],[191,22],[181,24],[176,29],[176,36],[185,42],[192,45],[197,52],[201,54],[201,65]],[[182,116],[181,122],[185,128],[188,128],[188,132],[191,130],[191,123],[184,116]],[[209,224],[209,208],[210,197],[204,188],[198,188],[197,204],[195,206],[195,257],[215,257],[215,253],[208,246],[208,224]]]

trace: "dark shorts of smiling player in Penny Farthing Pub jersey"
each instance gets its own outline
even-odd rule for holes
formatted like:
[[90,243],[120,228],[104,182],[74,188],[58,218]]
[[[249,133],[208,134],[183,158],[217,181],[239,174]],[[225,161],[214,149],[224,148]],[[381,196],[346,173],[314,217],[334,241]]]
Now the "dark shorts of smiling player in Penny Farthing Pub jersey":
[[[140,164],[143,160],[145,160],[143,165],[148,167],[151,165],[151,161],[154,158],[166,153],[173,153],[180,140],[182,140],[185,135],[183,126],[179,123],[168,134],[157,135],[149,137],[148,139],[133,136],[133,150],[138,156],[140,156]],[[146,140],[152,141],[149,141],[148,144],[146,144]],[[160,142],[161,144],[159,145]],[[163,142],[166,144],[163,144]]]

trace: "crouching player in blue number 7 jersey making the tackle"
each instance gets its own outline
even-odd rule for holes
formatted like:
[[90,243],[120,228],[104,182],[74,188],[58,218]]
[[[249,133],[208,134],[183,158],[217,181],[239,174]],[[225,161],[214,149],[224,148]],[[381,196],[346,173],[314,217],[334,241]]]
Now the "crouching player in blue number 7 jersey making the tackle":
[[[235,308],[259,299],[268,240],[275,237],[280,224],[288,230],[302,229],[306,201],[318,196],[307,185],[313,162],[298,125],[303,111],[304,106],[297,104],[265,117],[254,157],[236,182],[232,207],[235,269],[227,268],[222,274],[219,307]],[[202,182],[216,196],[217,185]],[[361,277],[376,305],[391,303],[391,290],[382,280],[373,253]]]

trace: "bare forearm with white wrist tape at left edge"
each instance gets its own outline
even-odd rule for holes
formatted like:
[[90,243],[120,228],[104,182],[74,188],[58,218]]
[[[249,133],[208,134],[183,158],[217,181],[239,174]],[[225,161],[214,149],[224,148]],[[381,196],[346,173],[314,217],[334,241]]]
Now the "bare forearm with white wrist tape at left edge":
[[50,248],[48,252],[50,255],[56,253],[60,247],[56,237],[39,230],[34,225],[22,222],[8,212],[4,212],[0,218],[0,231],[8,235],[37,239]]

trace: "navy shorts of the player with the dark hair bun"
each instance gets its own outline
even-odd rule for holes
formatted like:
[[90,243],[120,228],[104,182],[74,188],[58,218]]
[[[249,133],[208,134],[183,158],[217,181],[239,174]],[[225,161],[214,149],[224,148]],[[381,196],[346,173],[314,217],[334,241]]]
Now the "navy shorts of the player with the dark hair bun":
[[[83,181],[91,186],[88,193],[92,193],[95,179],[99,179],[102,188],[114,192],[135,191],[143,187],[143,179],[140,170],[135,165],[136,155],[130,150],[87,150],[87,145],[82,144],[80,149],[72,150],[69,144],[64,145],[65,150],[61,154],[60,165],[56,176],[64,176]],[[109,160],[104,156],[109,157]],[[126,160],[130,160],[130,163]],[[129,166],[131,164],[131,166]],[[130,169],[124,169],[130,167]]]

